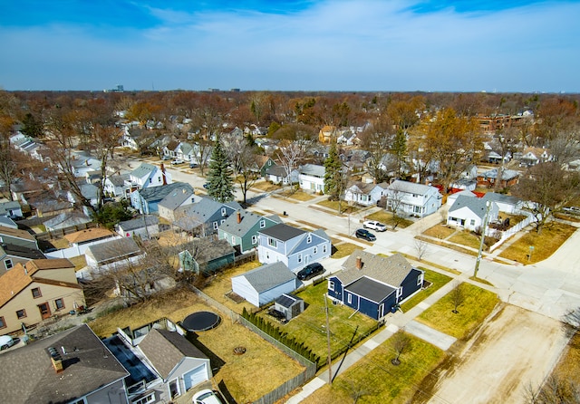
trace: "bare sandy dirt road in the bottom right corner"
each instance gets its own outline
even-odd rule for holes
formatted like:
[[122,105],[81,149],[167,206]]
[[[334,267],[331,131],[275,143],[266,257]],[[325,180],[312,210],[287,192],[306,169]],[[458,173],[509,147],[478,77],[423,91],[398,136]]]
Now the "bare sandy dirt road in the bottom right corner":
[[560,322],[506,305],[440,368],[430,403],[521,403],[567,339]]

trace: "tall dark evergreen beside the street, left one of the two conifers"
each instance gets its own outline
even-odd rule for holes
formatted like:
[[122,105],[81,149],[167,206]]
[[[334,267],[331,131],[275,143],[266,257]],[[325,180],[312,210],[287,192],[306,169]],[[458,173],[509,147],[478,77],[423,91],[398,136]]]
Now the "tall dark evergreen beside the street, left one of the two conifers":
[[232,168],[219,138],[216,139],[209,163],[208,195],[221,203],[234,199]]

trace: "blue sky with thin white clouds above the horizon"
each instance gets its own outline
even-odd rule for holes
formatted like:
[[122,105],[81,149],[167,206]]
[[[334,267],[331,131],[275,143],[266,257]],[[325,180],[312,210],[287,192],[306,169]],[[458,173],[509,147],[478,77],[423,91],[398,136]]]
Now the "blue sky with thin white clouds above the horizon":
[[0,0],[0,89],[580,92],[580,1]]

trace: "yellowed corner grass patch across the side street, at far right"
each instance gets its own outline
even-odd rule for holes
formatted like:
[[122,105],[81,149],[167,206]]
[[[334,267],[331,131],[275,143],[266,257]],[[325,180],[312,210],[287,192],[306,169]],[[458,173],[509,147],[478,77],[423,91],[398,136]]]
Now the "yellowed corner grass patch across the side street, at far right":
[[[554,254],[575,230],[575,226],[552,222],[549,226],[544,226],[539,235],[535,230],[527,232],[515,243],[509,245],[499,256],[522,264],[535,264]],[[531,259],[528,260],[530,245],[534,246],[534,251]]]

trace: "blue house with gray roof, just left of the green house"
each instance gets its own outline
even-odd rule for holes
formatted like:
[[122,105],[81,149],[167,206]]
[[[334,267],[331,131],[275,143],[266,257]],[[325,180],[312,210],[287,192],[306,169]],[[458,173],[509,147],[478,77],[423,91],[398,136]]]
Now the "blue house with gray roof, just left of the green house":
[[236,201],[219,203],[210,197],[202,197],[198,203],[179,207],[173,225],[189,233],[206,237],[218,233],[218,226],[241,208]]

